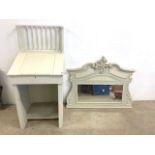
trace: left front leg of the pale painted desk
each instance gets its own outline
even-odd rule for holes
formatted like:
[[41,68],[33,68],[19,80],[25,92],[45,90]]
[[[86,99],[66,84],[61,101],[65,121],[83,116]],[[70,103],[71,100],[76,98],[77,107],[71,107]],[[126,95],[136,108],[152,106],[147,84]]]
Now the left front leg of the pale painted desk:
[[22,104],[18,86],[14,87],[14,95],[15,95],[15,103],[17,107],[17,114],[19,119],[20,128],[24,129],[27,123],[27,117],[26,117],[26,109],[24,108],[24,105]]

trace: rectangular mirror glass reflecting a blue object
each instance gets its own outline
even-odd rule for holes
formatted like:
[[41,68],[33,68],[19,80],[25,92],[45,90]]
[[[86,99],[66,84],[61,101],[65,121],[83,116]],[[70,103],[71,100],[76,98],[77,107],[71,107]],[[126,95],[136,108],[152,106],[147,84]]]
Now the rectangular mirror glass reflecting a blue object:
[[78,102],[117,102],[123,85],[78,85]]

